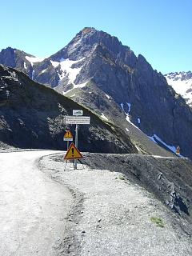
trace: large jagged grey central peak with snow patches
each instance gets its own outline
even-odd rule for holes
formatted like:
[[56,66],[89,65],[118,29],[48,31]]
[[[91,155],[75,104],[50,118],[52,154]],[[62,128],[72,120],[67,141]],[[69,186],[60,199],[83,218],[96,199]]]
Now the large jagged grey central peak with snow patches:
[[[136,57],[128,46],[122,46],[118,38],[85,28],[62,50],[35,62],[33,69],[34,80],[121,126],[142,150],[146,145],[139,145],[141,130],[154,141],[161,138],[170,146],[179,145],[182,154],[192,157],[190,108],[161,73],[153,70],[141,54]],[[92,89],[97,95],[91,95]],[[110,113],[111,101],[115,115]],[[141,130],[129,122],[128,114]]]

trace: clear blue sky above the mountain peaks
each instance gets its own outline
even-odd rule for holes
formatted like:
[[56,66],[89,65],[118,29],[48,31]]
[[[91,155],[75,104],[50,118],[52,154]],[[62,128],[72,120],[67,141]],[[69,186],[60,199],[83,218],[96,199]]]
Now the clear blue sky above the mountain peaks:
[[48,57],[85,26],[118,37],[162,74],[192,71],[191,0],[1,1],[0,50]]

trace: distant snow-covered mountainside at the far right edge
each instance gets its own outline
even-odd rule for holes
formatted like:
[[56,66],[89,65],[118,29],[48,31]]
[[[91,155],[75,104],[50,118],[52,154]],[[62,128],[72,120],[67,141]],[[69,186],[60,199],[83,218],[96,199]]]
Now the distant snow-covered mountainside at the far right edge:
[[165,74],[167,83],[174,88],[177,94],[185,98],[186,103],[192,106],[192,72],[172,72]]

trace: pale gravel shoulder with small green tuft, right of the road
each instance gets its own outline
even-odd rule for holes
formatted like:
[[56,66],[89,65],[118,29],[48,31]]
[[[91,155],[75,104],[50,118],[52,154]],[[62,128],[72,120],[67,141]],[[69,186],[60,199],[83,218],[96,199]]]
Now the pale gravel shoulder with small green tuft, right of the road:
[[59,255],[192,254],[191,236],[175,214],[123,174],[82,164],[73,170],[69,162],[64,170],[61,155],[42,158],[39,166],[74,194]]

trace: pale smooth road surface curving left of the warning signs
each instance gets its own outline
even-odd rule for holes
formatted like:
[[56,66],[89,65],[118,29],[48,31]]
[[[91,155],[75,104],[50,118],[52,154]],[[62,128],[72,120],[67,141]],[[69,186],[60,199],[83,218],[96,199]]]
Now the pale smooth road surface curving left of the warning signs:
[[52,256],[61,247],[72,195],[38,170],[55,151],[0,154],[0,255]]

